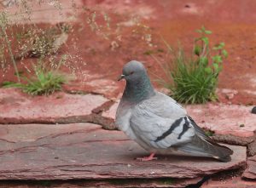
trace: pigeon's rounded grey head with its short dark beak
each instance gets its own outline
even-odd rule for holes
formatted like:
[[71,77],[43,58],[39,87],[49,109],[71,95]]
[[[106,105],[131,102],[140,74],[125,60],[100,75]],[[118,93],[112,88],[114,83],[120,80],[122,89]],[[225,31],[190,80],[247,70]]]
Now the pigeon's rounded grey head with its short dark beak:
[[119,80],[125,79],[126,81],[137,81],[147,75],[147,71],[142,63],[137,60],[131,60],[126,63],[123,68],[123,74],[119,77]]

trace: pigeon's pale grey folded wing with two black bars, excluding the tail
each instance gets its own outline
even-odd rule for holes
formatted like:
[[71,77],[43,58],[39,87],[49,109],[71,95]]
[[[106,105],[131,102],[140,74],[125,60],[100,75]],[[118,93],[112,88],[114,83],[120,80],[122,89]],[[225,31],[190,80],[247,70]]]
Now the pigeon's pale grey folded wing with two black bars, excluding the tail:
[[189,143],[195,135],[186,111],[175,100],[155,94],[136,105],[131,113],[130,126],[139,144],[166,149]]

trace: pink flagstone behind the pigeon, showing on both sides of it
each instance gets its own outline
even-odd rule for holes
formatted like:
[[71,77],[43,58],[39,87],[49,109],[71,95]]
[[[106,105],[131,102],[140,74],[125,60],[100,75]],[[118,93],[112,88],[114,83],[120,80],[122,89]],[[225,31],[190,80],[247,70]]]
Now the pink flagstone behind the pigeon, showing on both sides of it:
[[[103,112],[102,116],[114,119],[118,105],[119,101]],[[201,128],[211,129],[215,134],[232,134],[247,138],[252,137],[256,131],[256,115],[250,112],[252,106],[208,103],[184,107]]]

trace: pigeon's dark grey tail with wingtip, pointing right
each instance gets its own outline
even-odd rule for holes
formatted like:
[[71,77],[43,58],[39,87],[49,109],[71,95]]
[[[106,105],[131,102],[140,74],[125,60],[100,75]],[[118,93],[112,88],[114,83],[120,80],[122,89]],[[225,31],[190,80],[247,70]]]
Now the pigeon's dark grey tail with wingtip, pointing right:
[[203,140],[195,135],[193,140],[185,145],[179,145],[178,150],[188,152],[194,156],[213,157],[222,162],[230,162],[230,155],[233,151],[224,145],[218,145],[216,142],[208,138]]

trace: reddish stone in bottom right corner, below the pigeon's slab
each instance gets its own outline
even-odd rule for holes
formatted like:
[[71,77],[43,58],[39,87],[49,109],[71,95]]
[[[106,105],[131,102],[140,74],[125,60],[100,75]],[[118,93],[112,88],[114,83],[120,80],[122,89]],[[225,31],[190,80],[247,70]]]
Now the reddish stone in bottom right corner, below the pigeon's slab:
[[256,187],[255,181],[247,181],[241,179],[241,177],[234,177],[232,179],[225,179],[225,180],[208,180],[201,188],[254,188]]

